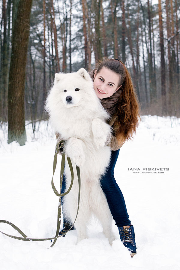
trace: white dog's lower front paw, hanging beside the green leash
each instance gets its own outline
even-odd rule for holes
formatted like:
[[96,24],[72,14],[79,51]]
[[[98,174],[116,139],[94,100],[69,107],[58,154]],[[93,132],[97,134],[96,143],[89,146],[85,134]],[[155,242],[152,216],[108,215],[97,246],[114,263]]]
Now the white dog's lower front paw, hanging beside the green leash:
[[85,154],[82,140],[71,137],[67,142],[65,152],[68,157],[72,158],[78,167],[82,167],[84,165]]

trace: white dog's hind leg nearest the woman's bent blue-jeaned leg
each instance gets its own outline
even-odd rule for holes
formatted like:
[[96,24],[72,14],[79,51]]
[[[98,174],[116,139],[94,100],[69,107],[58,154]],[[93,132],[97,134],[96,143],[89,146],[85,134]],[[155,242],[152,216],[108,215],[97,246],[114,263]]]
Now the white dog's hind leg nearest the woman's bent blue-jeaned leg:
[[91,188],[91,200],[92,211],[100,220],[103,226],[103,232],[112,246],[114,240],[112,231],[113,217],[110,212],[106,196],[104,195],[104,192],[98,182],[94,182]]

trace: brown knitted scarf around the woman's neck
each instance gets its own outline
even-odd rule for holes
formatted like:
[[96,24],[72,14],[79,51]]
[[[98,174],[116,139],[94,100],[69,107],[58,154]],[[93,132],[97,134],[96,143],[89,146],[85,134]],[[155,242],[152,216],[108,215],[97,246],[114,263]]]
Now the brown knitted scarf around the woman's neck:
[[[92,79],[94,78],[95,71],[96,71],[96,69],[93,69],[93,70],[91,70],[91,72],[89,72],[89,75]],[[102,106],[104,107],[105,110],[107,110],[107,112],[110,114],[110,116],[112,116],[116,112],[118,99],[119,99],[121,93],[122,93],[122,89],[119,89],[119,90],[117,90],[116,93],[114,93],[109,98],[101,98],[100,99]]]

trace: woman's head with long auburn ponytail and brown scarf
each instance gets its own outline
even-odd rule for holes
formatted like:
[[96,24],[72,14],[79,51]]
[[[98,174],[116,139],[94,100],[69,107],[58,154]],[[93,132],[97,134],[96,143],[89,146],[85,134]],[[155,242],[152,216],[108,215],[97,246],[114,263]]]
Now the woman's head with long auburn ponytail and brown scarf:
[[96,95],[113,121],[110,124],[115,131],[112,140],[116,141],[116,147],[111,145],[111,148],[118,150],[127,140],[131,140],[140,119],[139,102],[131,76],[119,59],[100,61],[90,76]]

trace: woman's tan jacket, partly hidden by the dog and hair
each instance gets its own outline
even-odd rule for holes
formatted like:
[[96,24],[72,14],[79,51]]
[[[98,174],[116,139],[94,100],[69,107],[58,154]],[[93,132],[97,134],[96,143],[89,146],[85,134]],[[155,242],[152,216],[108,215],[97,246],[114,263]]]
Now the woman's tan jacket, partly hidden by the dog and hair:
[[[116,120],[116,117],[117,117],[116,115],[113,115],[111,117],[110,121],[107,122],[110,126],[112,126],[112,128],[114,130],[114,134],[116,134],[117,129],[118,129],[118,127],[114,126],[114,122]],[[59,143],[62,140],[61,134],[59,134],[58,132],[55,132],[55,136],[57,139],[57,143]],[[118,140],[116,139],[116,136],[114,136],[114,135],[111,135],[110,142],[107,145],[110,146],[111,150],[113,150],[113,151],[120,149],[122,146],[122,145],[118,144]],[[59,153],[61,154],[61,152],[59,152]]]

